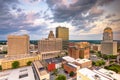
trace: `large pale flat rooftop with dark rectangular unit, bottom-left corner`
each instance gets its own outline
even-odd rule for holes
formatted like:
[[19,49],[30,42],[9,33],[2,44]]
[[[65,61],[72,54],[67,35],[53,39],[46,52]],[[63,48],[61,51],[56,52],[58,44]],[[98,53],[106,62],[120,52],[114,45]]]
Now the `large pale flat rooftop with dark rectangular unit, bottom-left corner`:
[[0,80],[35,80],[32,67],[0,72]]

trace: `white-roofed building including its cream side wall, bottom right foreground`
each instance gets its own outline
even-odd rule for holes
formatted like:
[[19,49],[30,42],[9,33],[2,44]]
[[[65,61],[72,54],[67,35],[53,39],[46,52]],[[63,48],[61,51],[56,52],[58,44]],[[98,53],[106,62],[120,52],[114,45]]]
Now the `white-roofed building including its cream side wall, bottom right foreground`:
[[77,80],[114,80],[114,79],[97,70],[82,68],[77,71]]

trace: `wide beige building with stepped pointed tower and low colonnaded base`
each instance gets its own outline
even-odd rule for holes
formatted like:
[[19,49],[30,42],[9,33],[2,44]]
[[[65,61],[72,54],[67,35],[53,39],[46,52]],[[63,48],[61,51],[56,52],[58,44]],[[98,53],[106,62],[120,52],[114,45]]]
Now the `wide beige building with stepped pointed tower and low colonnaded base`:
[[48,38],[38,42],[38,53],[42,55],[42,59],[57,57],[62,50],[62,39],[54,38],[54,34],[50,31]]

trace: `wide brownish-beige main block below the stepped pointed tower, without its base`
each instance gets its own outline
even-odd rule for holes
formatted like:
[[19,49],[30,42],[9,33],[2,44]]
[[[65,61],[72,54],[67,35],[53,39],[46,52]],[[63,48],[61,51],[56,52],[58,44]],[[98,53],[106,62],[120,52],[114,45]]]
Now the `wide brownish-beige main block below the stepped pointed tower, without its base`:
[[61,38],[47,38],[38,42],[39,52],[60,51],[62,50]]

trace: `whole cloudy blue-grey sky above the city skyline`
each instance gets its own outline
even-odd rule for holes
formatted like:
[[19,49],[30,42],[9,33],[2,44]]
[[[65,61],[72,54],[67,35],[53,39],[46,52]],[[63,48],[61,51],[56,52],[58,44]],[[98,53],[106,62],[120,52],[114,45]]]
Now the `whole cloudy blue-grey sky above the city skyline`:
[[105,27],[120,39],[120,0],[0,0],[0,40],[29,34],[46,38],[57,26],[69,28],[70,40],[101,40]]

